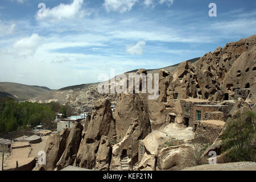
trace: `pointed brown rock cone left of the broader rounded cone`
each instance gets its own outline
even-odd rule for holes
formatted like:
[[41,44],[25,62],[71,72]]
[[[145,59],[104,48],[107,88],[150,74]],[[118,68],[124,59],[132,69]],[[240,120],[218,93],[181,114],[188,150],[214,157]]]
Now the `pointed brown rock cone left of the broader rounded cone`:
[[92,113],[88,129],[77,152],[77,166],[89,169],[96,166],[96,155],[101,147],[102,135],[108,137],[111,142],[115,141],[115,121],[109,100],[99,101]]

